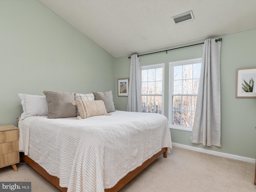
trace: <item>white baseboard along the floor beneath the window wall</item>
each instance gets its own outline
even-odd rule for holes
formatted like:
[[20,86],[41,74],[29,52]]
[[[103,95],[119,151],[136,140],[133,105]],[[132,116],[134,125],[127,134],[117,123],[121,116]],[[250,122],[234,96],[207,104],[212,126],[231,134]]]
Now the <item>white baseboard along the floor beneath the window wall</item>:
[[202,148],[198,148],[198,147],[192,147],[192,146],[183,145],[183,144],[179,144],[179,143],[172,143],[172,146],[189,149],[189,150],[193,150],[193,151],[198,151],[198,152],[202,152],[202,153],[207,153],[207,154],[211,154],[211,155],[217,155],[217,156],[221,156],[221,157],[236,159],[236,160],[245,161],[245,162],[249,162],[249,163],[255,163],[255,159],[253,159],[253,158],[242,157],[242,156],[238,156],[238,155],[232,155],[232,154],[228,154],[228,153],[222,153],[222,152],[212,151],[212,150],[208,150],[208,149],[202,149]]

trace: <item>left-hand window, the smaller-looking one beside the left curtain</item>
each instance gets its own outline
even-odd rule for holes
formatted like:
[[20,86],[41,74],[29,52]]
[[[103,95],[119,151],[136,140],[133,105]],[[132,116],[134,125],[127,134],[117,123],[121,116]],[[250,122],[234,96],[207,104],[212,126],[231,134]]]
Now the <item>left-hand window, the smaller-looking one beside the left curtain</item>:
[[164,64],[141,67],[142,112],[164,113]]

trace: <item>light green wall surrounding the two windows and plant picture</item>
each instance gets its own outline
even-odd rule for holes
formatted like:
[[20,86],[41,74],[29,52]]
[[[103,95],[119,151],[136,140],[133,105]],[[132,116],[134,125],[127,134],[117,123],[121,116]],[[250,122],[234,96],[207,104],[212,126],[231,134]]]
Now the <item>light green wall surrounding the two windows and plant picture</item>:
[[[236,69],[256,67],[256,30],[229,34],[221,45],[221,147],[190,142],[191,132],[171,129],[172,142],[255,158],[256,98],[235,98]],[[220,37],[216,37],[220,38]],[[198,43],[198,42],[195,42]],[[175,47],[174,47],[175,48]],[[155,50],[158,51],[158,50]],[[152,51],[154,52],[154,51]],[[140,57],[142,66],[165,63],[164,115],[168,117],[169,62],[202,57],[202,46]],[[116,58],[116,81],[129,76],[128,57]],[[116,95],[116,108],[125,110],[127,98]]]

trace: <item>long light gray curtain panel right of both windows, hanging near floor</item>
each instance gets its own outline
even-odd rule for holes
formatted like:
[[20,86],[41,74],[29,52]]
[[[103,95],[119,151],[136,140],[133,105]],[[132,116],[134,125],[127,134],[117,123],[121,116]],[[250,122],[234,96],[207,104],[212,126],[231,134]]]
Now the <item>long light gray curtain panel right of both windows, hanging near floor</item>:
[[215,39],[204,41],[202,67],[192,143],[220,147],[220,46]]

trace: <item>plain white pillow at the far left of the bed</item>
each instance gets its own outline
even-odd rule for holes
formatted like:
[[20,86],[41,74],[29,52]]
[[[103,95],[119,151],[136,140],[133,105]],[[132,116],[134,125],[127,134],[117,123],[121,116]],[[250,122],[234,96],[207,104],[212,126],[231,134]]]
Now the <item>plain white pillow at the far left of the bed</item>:
[[23,113],[20,119],[24,119],[29,116],[45,116],[48,115],[48,102],[46,96],[39,95],[27,95],[18,93]]

